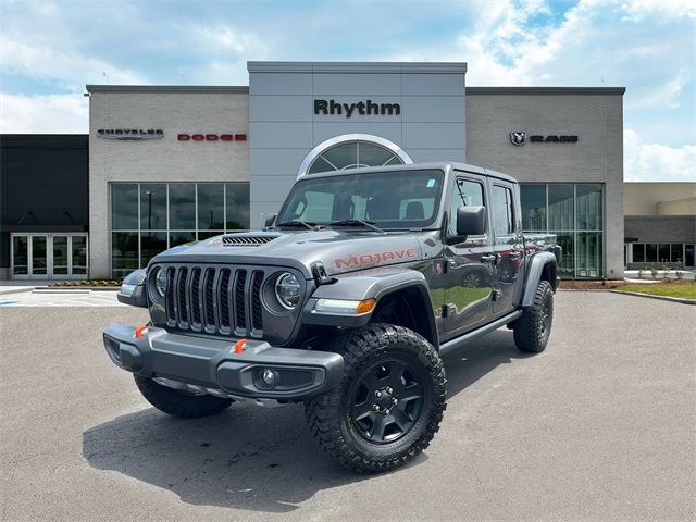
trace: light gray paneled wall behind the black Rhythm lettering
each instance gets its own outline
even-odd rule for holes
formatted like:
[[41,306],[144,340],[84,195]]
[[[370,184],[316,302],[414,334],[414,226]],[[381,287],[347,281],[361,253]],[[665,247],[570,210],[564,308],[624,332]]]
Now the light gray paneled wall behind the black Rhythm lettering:
[[[385,138],[413,162],[464,160],[463,63],[249,62],[248,69],[252,227],[277,212],[308,153],[336,136]],[[315,114],[314,100],[398,103],[400,111]]]

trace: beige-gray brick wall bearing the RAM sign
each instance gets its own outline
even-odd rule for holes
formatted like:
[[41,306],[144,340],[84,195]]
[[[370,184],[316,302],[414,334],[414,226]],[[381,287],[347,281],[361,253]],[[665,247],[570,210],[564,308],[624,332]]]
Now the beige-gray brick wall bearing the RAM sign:
[[[468,88],[467,160],[520,182],[602,183],[608,278],[623,277],[623,89]],[[511,132],[527,142],[512,145]],[[574,144],[529,141],[575,135]]]

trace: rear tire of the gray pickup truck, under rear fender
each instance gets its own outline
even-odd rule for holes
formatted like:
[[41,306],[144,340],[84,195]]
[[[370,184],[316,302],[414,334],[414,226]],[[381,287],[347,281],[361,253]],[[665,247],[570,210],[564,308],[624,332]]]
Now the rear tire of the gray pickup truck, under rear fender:
[[554,322],[554,289],[548,281],[539,281],[532,306],[514,321],[514,344],[520,351],[539,353],[546,349]]

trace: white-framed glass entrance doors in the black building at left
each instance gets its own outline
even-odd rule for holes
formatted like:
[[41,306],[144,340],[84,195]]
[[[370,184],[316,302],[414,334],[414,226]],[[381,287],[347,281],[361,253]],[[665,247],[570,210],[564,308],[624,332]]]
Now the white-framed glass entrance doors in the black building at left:
[[86,234],[13,234],[13,278],[80,279],[87,276]]

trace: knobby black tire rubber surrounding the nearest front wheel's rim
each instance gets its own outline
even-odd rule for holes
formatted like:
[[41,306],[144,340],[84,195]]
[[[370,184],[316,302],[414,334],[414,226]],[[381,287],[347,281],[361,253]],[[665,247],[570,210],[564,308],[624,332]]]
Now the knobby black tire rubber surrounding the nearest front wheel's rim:
[[[341,385],[304,403],[310,428],[330,457],[358,473],[395,469],[423,451],[439,430],[445,411],[445,370],[439,355],[425,338],[402,326],[369,324],[335,337],[327,350],[344,357]],[[356,381],[382,361],[406,361],[408,372],[423,380],[420,414],[410,430],[394,442],[373,443],[363,438],[350,418]],[[385,362],[386,364],[387,362]],[[384,366],[382,366],[384,369]]]

